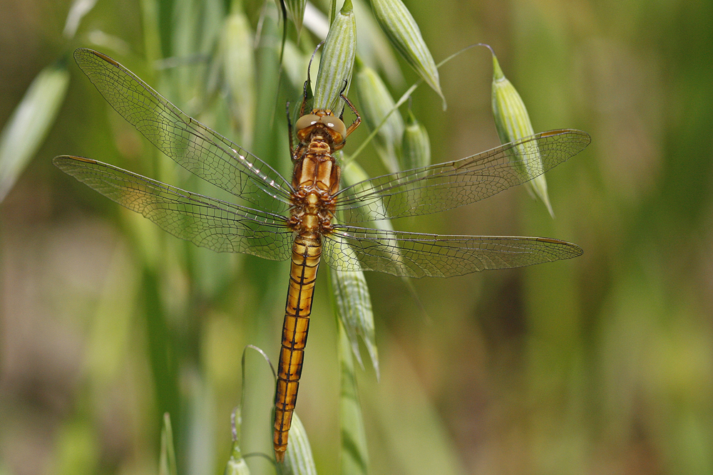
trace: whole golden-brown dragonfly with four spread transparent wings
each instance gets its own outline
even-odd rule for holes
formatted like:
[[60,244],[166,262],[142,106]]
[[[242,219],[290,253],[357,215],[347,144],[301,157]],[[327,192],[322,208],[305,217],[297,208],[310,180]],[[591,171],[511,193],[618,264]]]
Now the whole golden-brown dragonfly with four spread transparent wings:
[[[359,125],[332,110],[305,110],[289,123],[292,179],[190,118],[112,58],[80,48],[74,58],[107,102],[178,165],[232,194],[207,197],[84,157],[54,165],[180,239],[218,252],[290,261],[275,390],[274,449],[284,460],[297,402],[319,263],[335,271],[451,277],[516,268],[583,254],[559,239],[450,236],[369,229],[364,221],[442,212],[487,198],[548,171],[590,143],[580,130],[540,132],[451,162],[384,174],[341,187],[334,152]],[[338,218],[338,219],[337,219]]]

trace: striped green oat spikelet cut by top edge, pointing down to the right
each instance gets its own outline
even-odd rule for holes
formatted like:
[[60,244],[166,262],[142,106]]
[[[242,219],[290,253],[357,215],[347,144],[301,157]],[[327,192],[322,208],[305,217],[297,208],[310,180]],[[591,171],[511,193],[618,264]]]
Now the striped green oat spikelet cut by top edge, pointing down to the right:
[[446,98],[441,91],[436,62],[409,9],[401,0],[371,0],[371,9],[396,51],[441,96],[443,110],[446,110]]

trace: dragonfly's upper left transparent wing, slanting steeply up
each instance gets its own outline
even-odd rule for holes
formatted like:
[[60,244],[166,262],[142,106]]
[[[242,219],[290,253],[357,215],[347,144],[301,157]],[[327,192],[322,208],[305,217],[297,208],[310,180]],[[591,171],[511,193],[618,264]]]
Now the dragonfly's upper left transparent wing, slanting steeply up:
[[80,48],[74,58],[111,107],[178,165],[268,211],[289,207],[289,182],[255,155],[190,118],[108,56]]

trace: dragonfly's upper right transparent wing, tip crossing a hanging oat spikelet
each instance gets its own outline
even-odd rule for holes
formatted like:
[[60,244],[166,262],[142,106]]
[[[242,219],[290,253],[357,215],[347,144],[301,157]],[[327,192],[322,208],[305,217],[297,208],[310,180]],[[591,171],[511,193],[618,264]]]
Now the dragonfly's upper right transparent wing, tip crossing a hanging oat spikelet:
[[337,209],[349,223],[445,211],[528,182],[590,140],[580,130],[551,130],[455,162],[367,179],[342,189]]

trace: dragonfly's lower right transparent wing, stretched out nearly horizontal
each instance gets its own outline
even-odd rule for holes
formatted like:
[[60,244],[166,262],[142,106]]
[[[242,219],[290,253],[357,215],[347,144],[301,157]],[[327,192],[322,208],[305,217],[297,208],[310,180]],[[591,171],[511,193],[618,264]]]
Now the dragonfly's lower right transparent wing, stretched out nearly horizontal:
[[324,236],[324,259],[337,271],[380,271],[407,277],[451,277],[570,259],[582,249],[558,239],[441,236],[335,226]]

